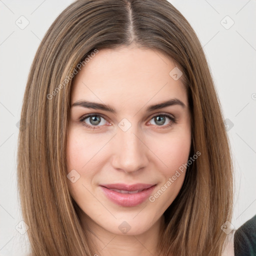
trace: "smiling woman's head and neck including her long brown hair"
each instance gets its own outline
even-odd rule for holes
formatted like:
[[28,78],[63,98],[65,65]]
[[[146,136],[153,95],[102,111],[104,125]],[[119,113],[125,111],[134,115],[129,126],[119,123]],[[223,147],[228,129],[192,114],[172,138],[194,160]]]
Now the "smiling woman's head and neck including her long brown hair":
[[221,255],[232,162],[200,42],[165,0],[77,0],[34,57],[18,185],[32,255]]

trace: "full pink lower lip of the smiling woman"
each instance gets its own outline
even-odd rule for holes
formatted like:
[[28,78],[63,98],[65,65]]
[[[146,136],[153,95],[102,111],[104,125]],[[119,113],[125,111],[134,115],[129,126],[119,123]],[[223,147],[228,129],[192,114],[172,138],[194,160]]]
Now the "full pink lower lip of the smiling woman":
[[140,203],[145,201],[151,194],[155,185],[134,194],[119,193],[111,189],[108,189],[104,186],[100,186],[100,187],[105,193],[106,197],[110,199],[112,202],[121,206],[131,207],[131,206],[139,205]]

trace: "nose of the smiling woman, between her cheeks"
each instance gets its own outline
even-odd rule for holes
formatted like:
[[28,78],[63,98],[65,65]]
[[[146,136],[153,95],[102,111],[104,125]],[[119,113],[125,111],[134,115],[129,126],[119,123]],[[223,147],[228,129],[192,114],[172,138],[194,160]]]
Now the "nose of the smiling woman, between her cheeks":
[[143,136],[135,129],[123,131],[119,129],[112,140],[112,166],[126,173],[135,172],[148,164],[148,148]]

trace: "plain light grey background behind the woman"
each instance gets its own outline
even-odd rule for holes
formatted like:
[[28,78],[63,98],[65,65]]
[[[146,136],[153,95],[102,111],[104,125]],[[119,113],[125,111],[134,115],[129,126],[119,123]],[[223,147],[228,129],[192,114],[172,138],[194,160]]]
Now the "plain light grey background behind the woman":
[[[39,42],[71,2],[0,0],[0,255],[26,252],[26,233],[20,234],[16,229],[22,220],[16,189],[16,123]],[[236,179],[232,225],[238,228],[256,214],[256,1],[170,2],[197,33],[214,77],[224,118],[233,123],[228,130]],[[20,18],[22,15],[25,18]],[[29,24],[20,29],[26,19]]]

